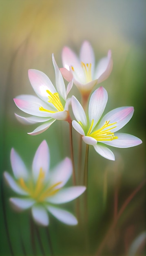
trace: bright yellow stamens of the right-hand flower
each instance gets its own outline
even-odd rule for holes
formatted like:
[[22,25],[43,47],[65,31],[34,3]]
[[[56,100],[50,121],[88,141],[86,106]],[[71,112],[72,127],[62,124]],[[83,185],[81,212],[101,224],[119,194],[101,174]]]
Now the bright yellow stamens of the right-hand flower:
[[[117,124],[117,122],[113,124],[109,124],[110,121],[106,121],[102,128],[91,132],[91,129],[93,127],[94,120],[92,120],[91,126],[88,130],[87,136],[92,137],[96,139],[97,141],[109,141],[113,139],[118,139],[117,136],[114,135],[114,133],[111,131],[112,129],[116,128],[117,126],[113,126],[114,124]],[[113,127],[110,127],[113,126]],[[110,127],[110,128],[109,128]],[[90,133],[91,132],[91,133]]]

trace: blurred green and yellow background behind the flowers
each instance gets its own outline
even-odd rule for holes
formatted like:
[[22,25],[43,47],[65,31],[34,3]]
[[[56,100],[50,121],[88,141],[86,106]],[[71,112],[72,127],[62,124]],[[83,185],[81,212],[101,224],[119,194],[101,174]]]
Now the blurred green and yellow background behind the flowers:
[[[66,226],[51,217],[49,232],[55,256],[96,255],[114,216],[114,196],[118,195],[118,210],[126,198],[146,178],[145,170],[145,102],[146,102],[146,1],[145,0],[0,0],[0,173],[11,173],[10,150],[20,154],[31,169],[36,149],[46,139],[51,151],[51,166],[70,157],[68,124],[56,121],[49,130],[38,136],[27,132],[34,126],[23,126],[15,119],[20,114],[13,98],[19,94],[33,94],[28,79],[30,68],[49,76],[55,84],[52,53],[62,67],[64,45],[77,54],[84,40],[90,41],[96,61],[111,49],[113,71],[102,83],[108,91],[106,112],[120,106],[134,106],[131,121],[122,129],[142,139],[143,144],[127,149],[113,148],[116,160],[111,162],[89,148],[88,162],[88,247],[84,229]],[[96,86],[97,88],[97,86]],[[80,99],[77,88],[72,93]],[[21,113],[22,114],[22,113]],[[78,135],[73,131],[75,159]],[[85,145],[83,144],[83,151]],[[77,166],[77,163],[75,163]],[[0,199],[0,255],[12,255],[6,232],[6,221],[13,255],[32,254],[29,213],[15,213],[9,205],[14,193],[5,183]],[[116,192],[117,191],[117,192]],[[135,195],[119,218],[115,229],[100,255],[146,255],[145,187]],[[64,205],[75,211],[75,203]],[[4,209],[3,209],[4,208]],[[83,223],[84,224],[84,223]],[[43,228],[40,236],[51,255]],[[21,236],[20,236],[21,234]],[[37,256],[42,255],[35,237]]]

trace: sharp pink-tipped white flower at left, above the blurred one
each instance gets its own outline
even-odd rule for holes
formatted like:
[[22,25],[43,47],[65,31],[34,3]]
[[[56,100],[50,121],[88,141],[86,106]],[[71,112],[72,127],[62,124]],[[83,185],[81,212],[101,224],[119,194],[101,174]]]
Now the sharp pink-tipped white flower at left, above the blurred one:
[[51,83],[48,76],[39,70],[29,70],[29,80],[33,90],[38,97],[33,95],[19,95],[14,99],[14,102],[20,110],[31,115],[29,117],[21,117],[16,115],[17,119],[23,124],[44,124],[38,126],[31,135],[37,135],[44,132],[53,122],[57,120],[68,120],[69,117],[69,104],[71,99],[67,99],[73,81],[69,82],[65,88],[62,74],[52,56],[53,65],[55,69],[56,88]]

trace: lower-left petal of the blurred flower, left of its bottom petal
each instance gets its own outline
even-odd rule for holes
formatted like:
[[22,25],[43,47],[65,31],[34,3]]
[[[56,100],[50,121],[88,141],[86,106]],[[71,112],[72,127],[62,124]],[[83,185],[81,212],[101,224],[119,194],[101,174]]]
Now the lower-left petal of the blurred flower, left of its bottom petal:
[[13,204],[13,207],[15,210],[25,210],[29,209],[33,206],[35,203],[35,200],[29,199],[29,198],[10,198],[11,204]]

